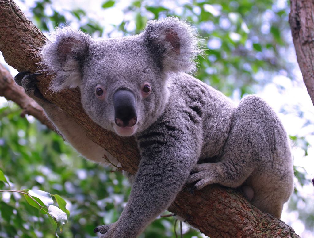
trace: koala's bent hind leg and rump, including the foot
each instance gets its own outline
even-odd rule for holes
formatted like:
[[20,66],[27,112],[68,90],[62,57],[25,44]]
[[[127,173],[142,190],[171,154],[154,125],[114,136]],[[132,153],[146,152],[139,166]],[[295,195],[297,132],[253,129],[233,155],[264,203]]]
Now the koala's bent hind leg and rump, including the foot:
[[200,189],[219,183],[247,185],[251,202],[280,218],[293,189],[293,169],[287,135],[273,109],[256,96],[241,100],[218,163],[198,164],[187,182]]

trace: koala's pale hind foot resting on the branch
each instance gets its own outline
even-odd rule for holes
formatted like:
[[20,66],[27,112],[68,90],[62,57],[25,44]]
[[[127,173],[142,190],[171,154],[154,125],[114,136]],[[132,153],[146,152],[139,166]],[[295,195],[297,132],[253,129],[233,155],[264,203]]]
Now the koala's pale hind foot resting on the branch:
[[194,183],[198,181],[191,189],[190,193],[193,194],[195,189],[202,189],[206,185],[216,183],[215,178],[215,164],[205,163],[198,164],[192,169],[193,174],[187,178],[187,183]]

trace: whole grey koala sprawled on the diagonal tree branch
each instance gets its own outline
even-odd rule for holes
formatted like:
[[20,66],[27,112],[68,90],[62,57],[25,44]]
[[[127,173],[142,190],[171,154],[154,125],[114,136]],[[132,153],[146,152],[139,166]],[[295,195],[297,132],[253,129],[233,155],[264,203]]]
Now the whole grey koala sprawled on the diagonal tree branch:
[[[289,141],[273,109],[257,96],[239,105],[191,75],[197,33],[174,17],[152,20],[134,36],[94,40],[57,29],[41,49],[50,89],[79,87],[88,116],[119,136],[134,136],[140,164],[127,205],[113,224],[95,228],[102,238],[137,237],[174,201],[185,183],[240,188],[253,205],[280,218],[293,190]],[[40,94],[38,73],[15,80],[45,110],[85,158],[104,154],[65,112]]]

